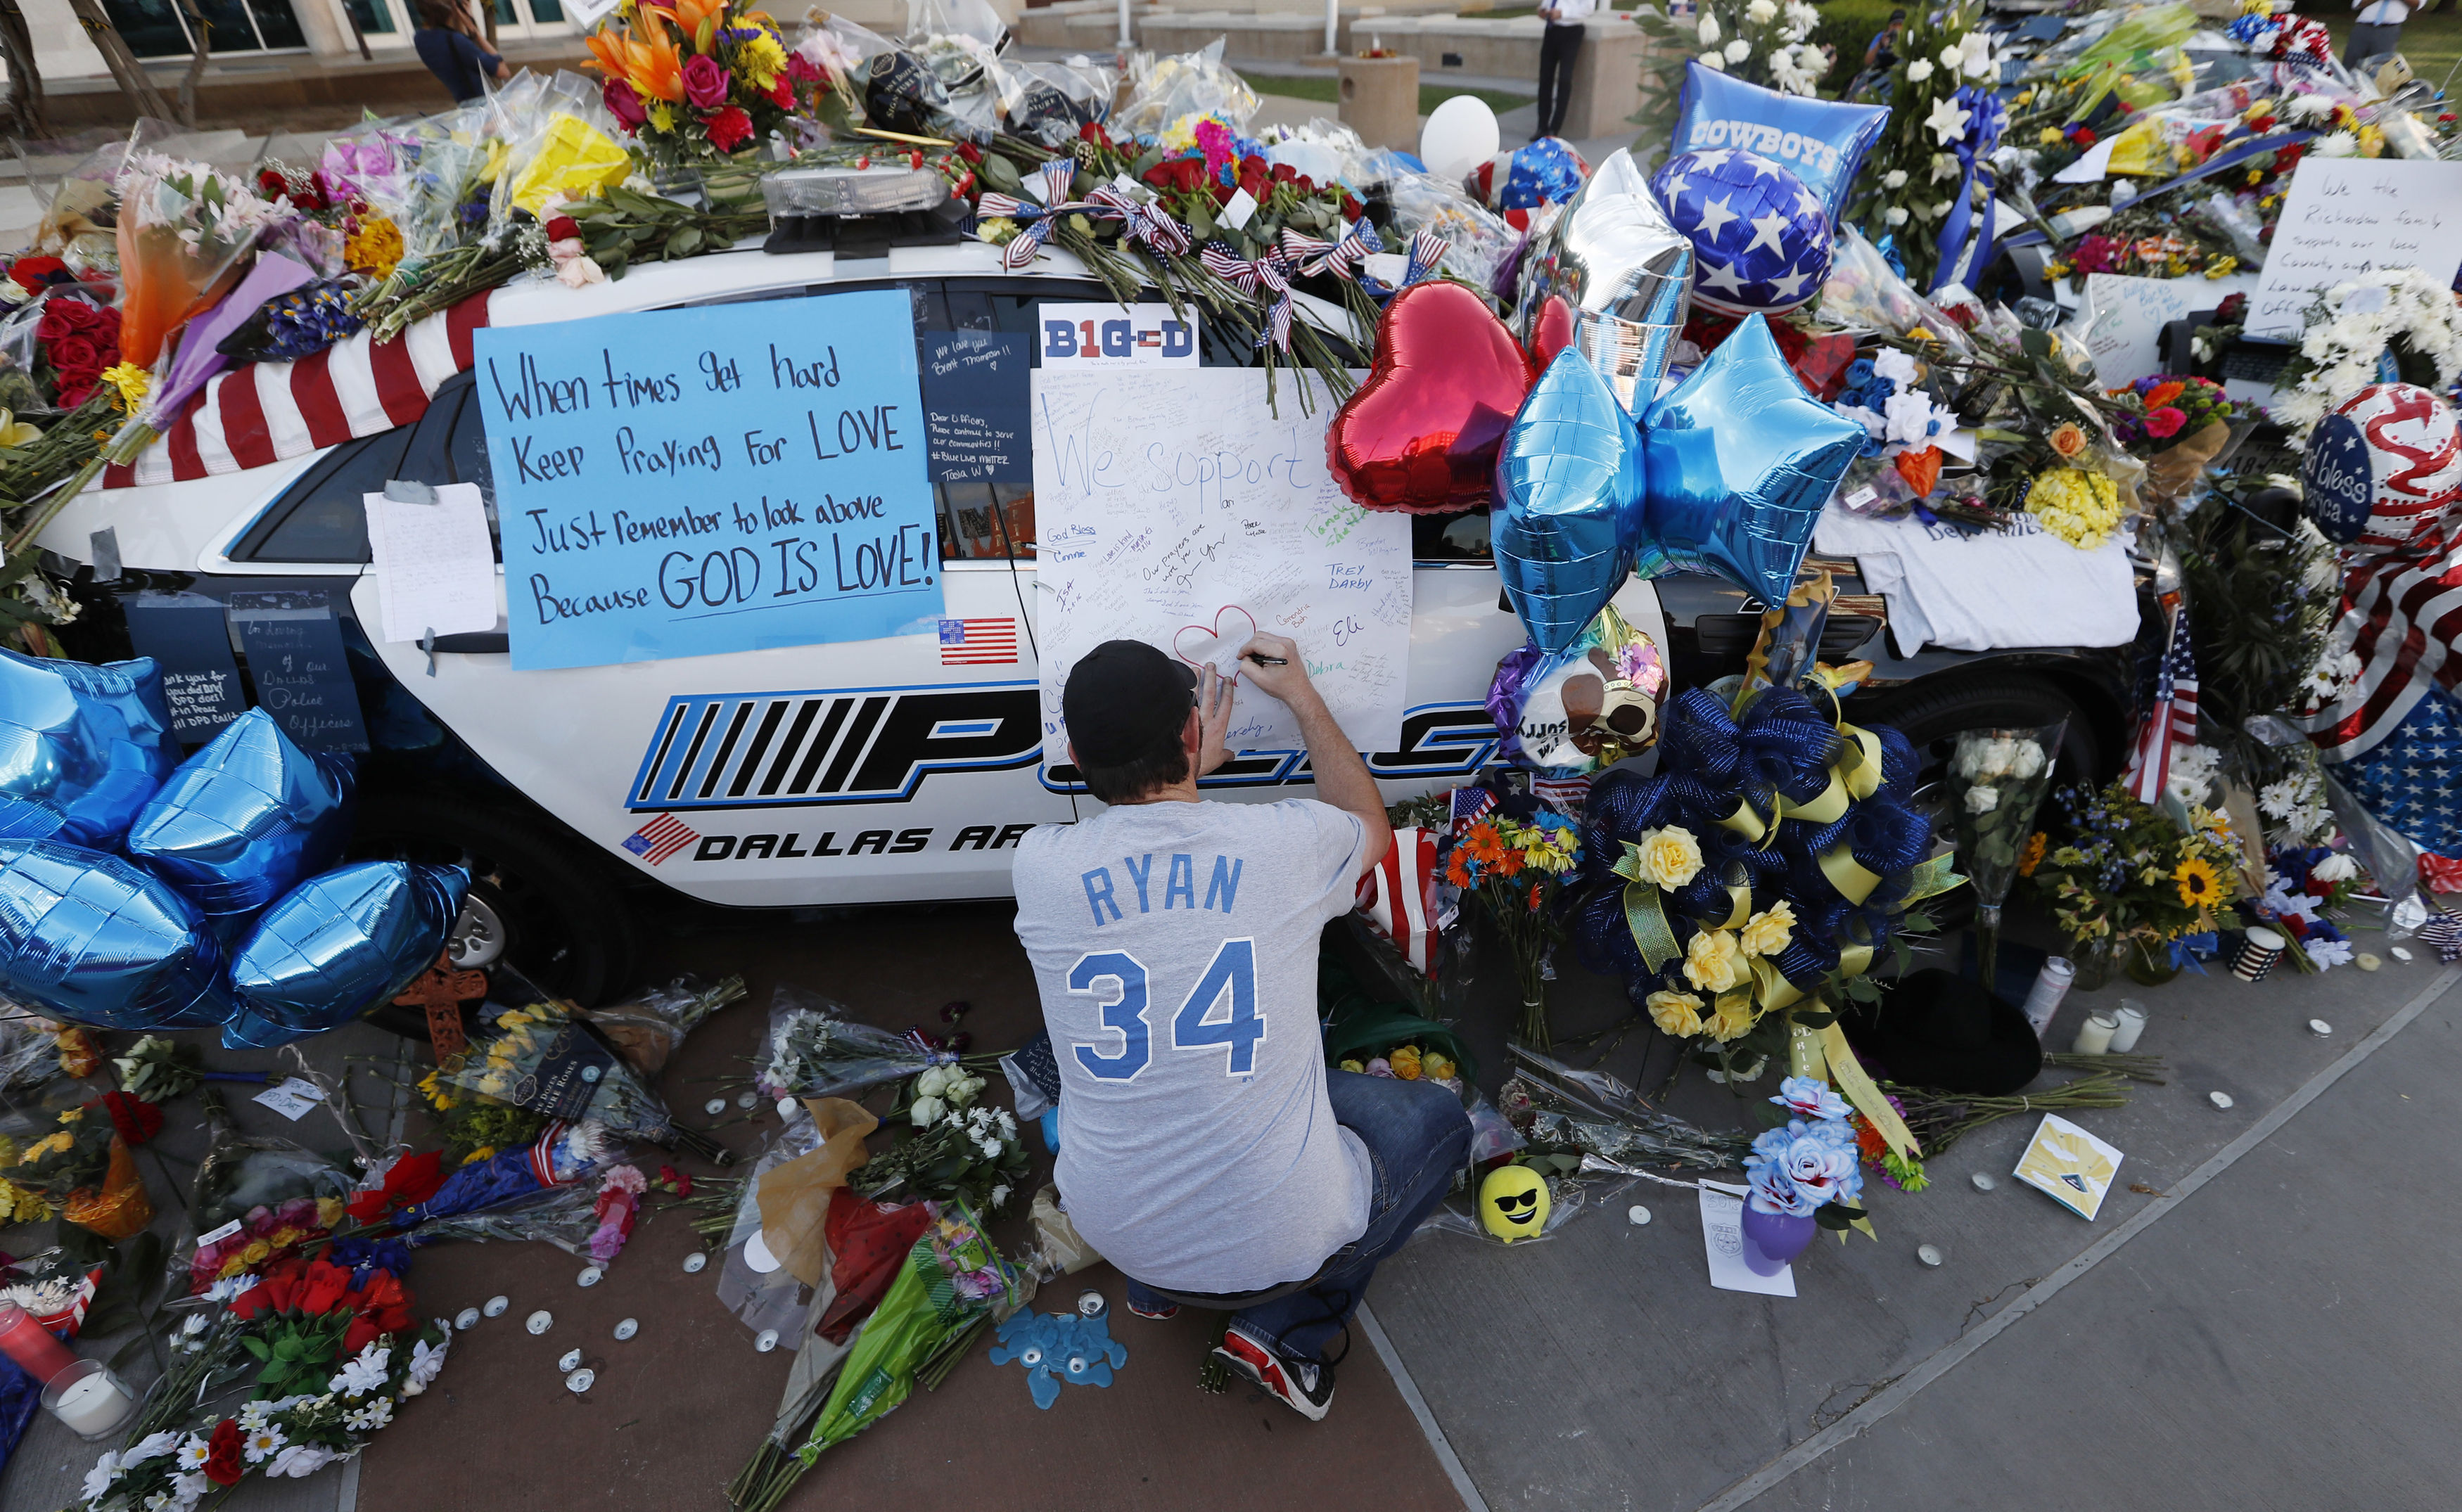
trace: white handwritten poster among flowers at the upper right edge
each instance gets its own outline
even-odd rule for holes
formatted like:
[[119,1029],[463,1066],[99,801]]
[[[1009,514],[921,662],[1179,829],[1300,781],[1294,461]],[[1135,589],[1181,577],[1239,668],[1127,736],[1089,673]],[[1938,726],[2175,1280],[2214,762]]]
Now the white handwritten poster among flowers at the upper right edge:
[[2462,163],[2302,158],[2248,300],[2248,335],[2295,342],[2319,293],[2376,268],[2452,283],[2462,268]]

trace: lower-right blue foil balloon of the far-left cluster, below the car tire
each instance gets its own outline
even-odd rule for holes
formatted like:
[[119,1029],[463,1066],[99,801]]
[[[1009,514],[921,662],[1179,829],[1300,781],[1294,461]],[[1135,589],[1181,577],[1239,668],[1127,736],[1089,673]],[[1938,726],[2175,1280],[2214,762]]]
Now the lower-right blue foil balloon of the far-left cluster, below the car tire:
[[224,1044],[335,1029],[387,1002],[436,963],[468,891],[460,867],[421,862],[355,862],[298,884],[231,958],[246,1012]]

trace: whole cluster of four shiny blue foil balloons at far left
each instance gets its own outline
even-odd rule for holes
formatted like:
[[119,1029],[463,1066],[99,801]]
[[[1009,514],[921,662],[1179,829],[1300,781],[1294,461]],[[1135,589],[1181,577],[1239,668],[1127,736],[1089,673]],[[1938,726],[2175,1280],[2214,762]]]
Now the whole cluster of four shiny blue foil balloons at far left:
[[436,960],[470,877],[330,869],[350,798],[352,761],[263,709],[180,763],[150,660],[0,650],[0,992],[111,1029],[222,1024],[227,1047],[355,1019]]

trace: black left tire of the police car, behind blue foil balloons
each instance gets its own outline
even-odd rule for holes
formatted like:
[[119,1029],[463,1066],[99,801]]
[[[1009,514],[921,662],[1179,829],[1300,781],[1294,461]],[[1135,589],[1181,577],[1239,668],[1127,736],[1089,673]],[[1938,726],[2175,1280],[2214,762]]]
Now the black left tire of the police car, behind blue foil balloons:
[[[618,889],[574,842],[502,808],[433,793],[364,798],[355,859],[470,867],[470,889],[505,921],[505,958],[556,997],[583,1007],[633,980],[635,923]],[[544,955],[542,955],[544,953]],[[382,1005],[379,1029],[423,1037],[426,1015]]]

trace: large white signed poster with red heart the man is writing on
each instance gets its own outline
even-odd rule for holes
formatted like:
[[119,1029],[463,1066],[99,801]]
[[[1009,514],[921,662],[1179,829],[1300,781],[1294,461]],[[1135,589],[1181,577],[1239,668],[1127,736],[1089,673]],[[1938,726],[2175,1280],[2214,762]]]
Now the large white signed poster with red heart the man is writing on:
[[[1361,751],[1401,744],[1411,520],[1369,512],[1325,468],[1334,404],[1295,379],[1265,404],[1248,367],[1034,372],[1037,645],[1044,746],[1066,761],[1061,687],[1103,640],[1238,672],[1265,630],[1307,657]],[[1297,751],[1290,712],[1241,682],[1233,751]]]

